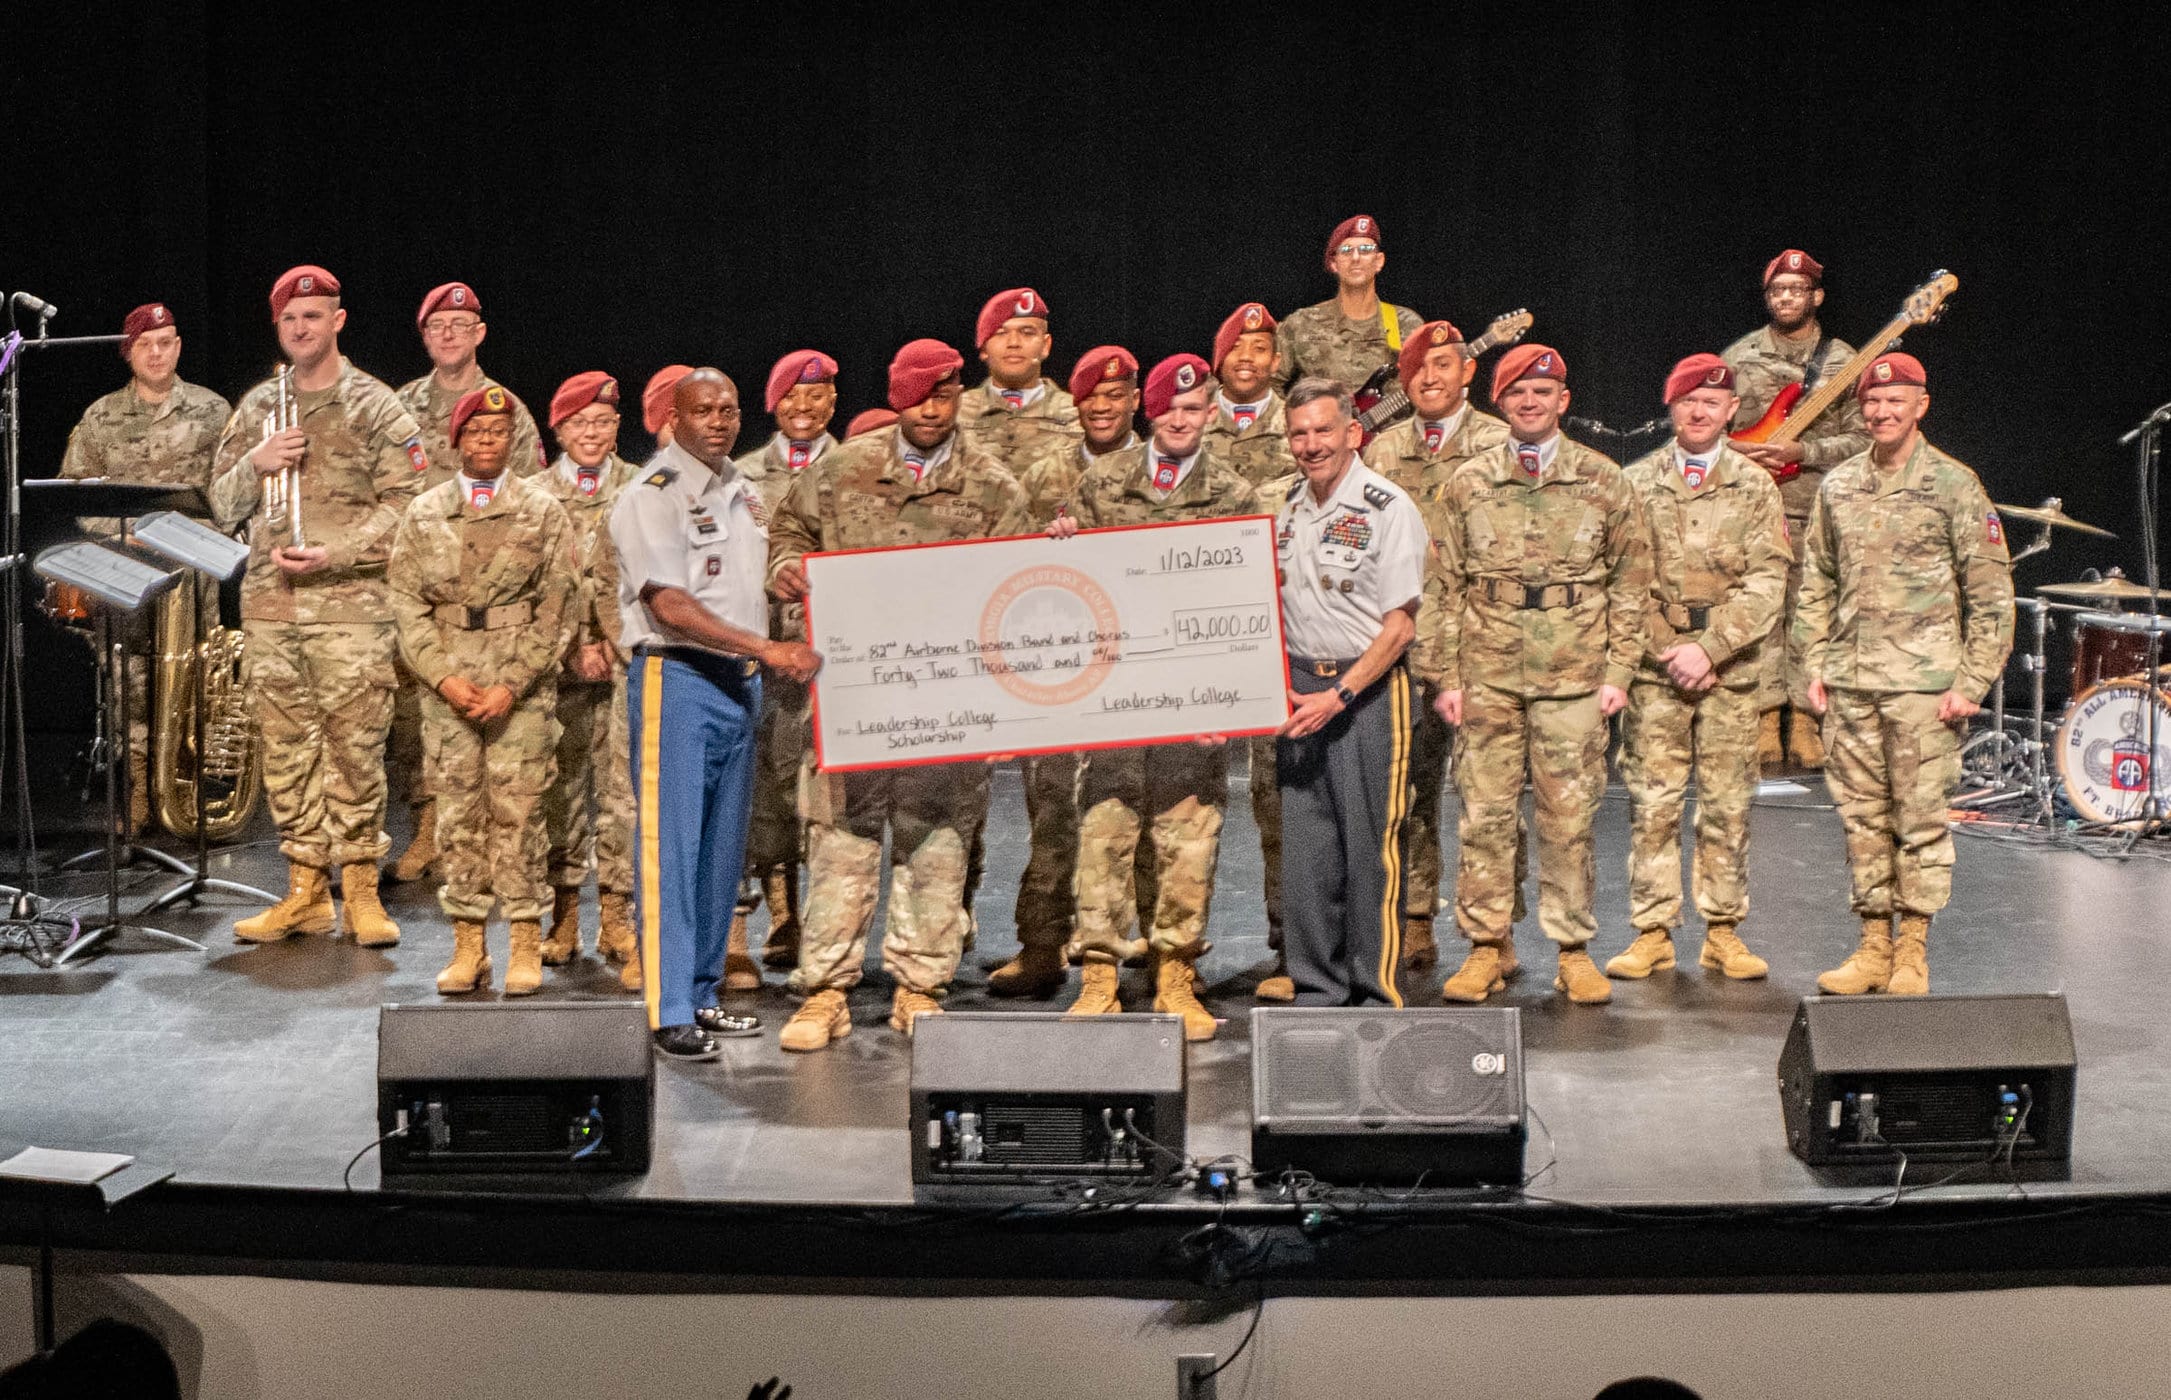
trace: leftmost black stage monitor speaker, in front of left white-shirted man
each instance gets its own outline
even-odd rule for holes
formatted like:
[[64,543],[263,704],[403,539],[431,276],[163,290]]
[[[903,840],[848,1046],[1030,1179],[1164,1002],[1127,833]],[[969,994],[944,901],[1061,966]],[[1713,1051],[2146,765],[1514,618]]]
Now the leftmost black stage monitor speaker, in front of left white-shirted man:
[[656,1061],[640,1003],[386,1005],[384,1174],[645,1172]]

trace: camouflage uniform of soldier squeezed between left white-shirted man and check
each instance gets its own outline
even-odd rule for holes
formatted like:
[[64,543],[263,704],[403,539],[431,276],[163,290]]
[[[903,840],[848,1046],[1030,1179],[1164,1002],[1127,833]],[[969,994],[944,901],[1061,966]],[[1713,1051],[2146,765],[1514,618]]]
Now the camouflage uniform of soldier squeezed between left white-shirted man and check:
[[[790,464],[790,438],[777,434],[766,445],[736,458],[762,506],[775,519],[784,495],[803,473],[814,469],[836,438],[821,434],[797,471]],[[769,636],[779,642],[805,640],[805,608],[769,603]],[[747,881],[738,912],[753,914],[773,886],[784,907],[769,909],[769,942],[797,938],[799,864],[805,860],[805,838],[799,825],[799,768],[812,742],[812,688],[779,671],[762,677],[762,716],[753,740],[753,814],[747,818]]]

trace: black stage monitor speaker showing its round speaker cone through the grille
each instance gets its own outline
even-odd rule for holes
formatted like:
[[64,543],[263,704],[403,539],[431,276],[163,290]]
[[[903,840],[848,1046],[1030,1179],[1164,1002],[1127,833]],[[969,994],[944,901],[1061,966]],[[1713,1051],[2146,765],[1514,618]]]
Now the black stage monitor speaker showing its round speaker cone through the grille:
[[1250,1161],[1340,1185],[1522,1185],[1522,1011],[1255,1007]]

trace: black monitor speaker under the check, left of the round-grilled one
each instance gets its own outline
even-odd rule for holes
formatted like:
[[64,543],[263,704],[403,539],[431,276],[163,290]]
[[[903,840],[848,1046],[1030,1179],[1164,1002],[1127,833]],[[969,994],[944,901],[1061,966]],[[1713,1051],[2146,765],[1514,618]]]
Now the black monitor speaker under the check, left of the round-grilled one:
[[1183,1018],[951,1011],[912,1031],[912,1181],[1183,1166]]

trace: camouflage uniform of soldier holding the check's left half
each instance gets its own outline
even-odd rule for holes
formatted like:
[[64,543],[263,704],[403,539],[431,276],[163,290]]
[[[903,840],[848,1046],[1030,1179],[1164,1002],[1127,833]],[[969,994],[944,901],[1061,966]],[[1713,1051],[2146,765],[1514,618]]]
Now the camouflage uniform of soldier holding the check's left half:
[[[964,434],[951,434],[949,458],[918,482],[903,464],[899,441],[899,432],[853,438],[792,482],[769,530],[771,580],[816,549],[988,538],[1023,508],[1018,480]],[[860,981],[888,827],[890,914],[881,966],[903,990],[940,992],[964,951],[966,862],[988,816],[988,764],[810,768],[808,777],[799,988],[821,992]]]

